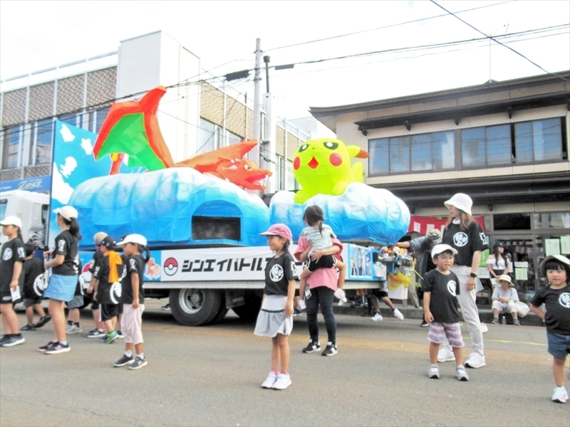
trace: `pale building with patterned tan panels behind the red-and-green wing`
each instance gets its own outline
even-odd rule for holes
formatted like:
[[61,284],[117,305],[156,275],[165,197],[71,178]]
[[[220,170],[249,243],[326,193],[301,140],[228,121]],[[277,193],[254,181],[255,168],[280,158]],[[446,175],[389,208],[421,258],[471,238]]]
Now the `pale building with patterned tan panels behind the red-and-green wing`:
[[[217,87],[223,88],[221,80],[209,77],[198,56],[157,31],[120,41],[115,52],[3,80],[0,189],[48,191],[55,120],[97,133],[112,102],[138,99],[158,85],[167,87],[157,116],[175,162],[255,138],[247,99],[229,95]],[[264,135],[263,109],[261,116]],[[261,152],[261,166],[273,173],[268,193],[296,188],[293,155],[311,137],[302,126],[274,123],[274,137]]]

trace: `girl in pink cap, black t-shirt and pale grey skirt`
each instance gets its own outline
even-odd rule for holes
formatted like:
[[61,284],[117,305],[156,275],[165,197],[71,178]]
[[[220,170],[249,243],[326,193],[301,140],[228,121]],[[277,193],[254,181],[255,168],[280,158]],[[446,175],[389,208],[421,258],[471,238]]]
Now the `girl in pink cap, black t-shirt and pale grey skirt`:
[[271,337],[271,372],[261,387],[283,390],[291,385],[288,337],[293,330],[296,267],[289,253],[289,243],[293,236],[285,224],[274,224],[261,236],[267,236],[267,245],[275,253],[265,265],[263,302],[254,332],[261,337]]

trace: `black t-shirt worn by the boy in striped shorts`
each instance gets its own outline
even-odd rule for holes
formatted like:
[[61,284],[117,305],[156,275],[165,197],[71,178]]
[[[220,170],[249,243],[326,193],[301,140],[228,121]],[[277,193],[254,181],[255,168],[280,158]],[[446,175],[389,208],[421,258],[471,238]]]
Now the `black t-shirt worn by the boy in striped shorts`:
[[460,291],[459,279],[455,273],[450,272],[445,275],[437,270],[431,270],[423,279],[422,289],[424,292],[431,292],[430,312],[434,322],[459,322],[455,295],[459,295]]

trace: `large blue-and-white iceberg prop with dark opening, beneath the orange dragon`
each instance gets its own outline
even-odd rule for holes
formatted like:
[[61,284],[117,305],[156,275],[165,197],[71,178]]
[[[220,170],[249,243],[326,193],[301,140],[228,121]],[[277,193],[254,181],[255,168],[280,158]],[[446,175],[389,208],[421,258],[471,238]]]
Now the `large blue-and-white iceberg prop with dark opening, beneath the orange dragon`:
[[[269,209],[258,196],[215,176],[191,168],[162,169],[145,174],[117,174],[88,179],[71,194],[84,236],[105,231],[115,238],[139,233],[150,246],[230,244],[264,246]],[[192,238],[192,217],[239,218],[239,238]],[[237,222],[234,219],[234,224]],[[216,233],[214,233],[216,234]],[[218,233],[219,235],[219,233]],[[236,235],[236,233],[234,233]],[[92,248],[90,238],[81,246]]]

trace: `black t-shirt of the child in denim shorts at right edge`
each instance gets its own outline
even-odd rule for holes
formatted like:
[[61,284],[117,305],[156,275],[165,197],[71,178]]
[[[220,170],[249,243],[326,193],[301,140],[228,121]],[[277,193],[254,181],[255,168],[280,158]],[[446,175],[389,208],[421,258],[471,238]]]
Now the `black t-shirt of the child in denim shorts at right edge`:
[[551,334],[570,335],[570,285],[562,289],[543,286],[531,301],[534,307],[546,305],[544,323]]

